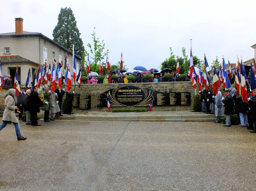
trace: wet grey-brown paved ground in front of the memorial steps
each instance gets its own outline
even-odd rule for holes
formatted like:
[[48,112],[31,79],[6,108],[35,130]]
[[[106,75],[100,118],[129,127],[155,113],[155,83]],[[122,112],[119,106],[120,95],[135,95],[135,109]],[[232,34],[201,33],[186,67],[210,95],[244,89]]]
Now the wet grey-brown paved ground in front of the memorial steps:
[[41,123],[21,122],[25,141],[1,130],[1,190],[256,190],[256,135],[240,126]]

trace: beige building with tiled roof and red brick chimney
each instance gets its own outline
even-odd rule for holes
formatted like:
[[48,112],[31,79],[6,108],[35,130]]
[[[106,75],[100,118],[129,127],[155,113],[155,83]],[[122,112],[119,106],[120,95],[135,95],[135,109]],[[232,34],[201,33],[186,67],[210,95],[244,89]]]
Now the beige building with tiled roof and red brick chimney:
[[[73,74],[72,52],[39,32],[23,31],[22,18],[15,18],[15,32],[0,34],[2,74],[10,74],[14,79],[18,65],[18,79],[22,85],[26,83],[29,68],[31,69],[31,82],[38,65],[43,65],[46,61],[48,66],[49,63],[51,64],[52,69],[52,61],[55,57],[56,62],[63,61],[64,66],[65,55],[67,62],[70,63],[70,72]],[[75,55],[77,70],[81,60],[78,55]],[[63,72],[63,68],[61,71]]]

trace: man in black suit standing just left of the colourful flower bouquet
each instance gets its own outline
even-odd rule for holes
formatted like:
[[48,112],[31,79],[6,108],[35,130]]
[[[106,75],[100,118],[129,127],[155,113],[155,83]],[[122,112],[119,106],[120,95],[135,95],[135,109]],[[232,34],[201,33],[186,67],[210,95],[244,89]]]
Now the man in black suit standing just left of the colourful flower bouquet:
[[43,104],[43,102],[40,100],[38,93],[37,93],[37,86],[32,87],[32,91],[30,93],[30,102],[29,102],[29,110],[31,115],[31,125],[32,126],[39,126],[41,124],[38,124],[37,122],[37,113],[40,112],[40,105]]

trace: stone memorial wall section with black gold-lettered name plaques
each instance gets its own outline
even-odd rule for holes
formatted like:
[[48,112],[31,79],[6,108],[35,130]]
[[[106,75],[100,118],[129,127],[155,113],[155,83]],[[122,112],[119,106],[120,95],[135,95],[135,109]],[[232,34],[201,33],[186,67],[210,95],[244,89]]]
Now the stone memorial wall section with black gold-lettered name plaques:
[[[72,88],[73,91],[73,88]],[[82,84],[75,89],[77,110],[136,109],[192,110],[195,90],[191,82]]]

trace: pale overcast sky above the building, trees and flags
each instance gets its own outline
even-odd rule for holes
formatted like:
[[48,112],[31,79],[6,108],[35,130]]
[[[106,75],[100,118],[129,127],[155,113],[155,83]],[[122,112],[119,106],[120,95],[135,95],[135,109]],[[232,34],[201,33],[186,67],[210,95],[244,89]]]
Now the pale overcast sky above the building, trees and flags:
[[[209,2],[209,3],[207,3]],[[211,2],[211,3],[210,3]],[[92,43],[93,27],[105,41],[112,64],[123,60],[129,71],[135,66],[161,67],[170,56],[192,52],[208,63],[222,55],[227,63],[254,57],[256,43],[256,1],[254,0],[11,0],[1,4],[0,33],[15,32],[15,17],[23,18],[23,30],[41,32],[53,39],[52,32],[61,7],[70,7],[77,21],[84,47]]]

